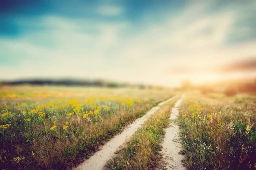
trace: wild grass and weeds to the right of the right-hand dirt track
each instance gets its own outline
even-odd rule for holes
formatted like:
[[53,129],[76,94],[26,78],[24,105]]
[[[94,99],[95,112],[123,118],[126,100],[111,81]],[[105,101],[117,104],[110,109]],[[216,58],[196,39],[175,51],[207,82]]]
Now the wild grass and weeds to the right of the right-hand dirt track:
[[[214,97],[212,97],[214,96]],[[180,107],[189,170],[256,169],[256,98],[192,93]]]

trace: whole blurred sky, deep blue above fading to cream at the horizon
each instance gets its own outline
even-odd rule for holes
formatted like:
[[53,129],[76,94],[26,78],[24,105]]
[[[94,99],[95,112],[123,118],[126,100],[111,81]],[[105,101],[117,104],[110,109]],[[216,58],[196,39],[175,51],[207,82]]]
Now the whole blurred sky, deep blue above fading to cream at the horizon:
[[173,86],[256,77],[255,61],[255,0],[0,1],[3,80]]

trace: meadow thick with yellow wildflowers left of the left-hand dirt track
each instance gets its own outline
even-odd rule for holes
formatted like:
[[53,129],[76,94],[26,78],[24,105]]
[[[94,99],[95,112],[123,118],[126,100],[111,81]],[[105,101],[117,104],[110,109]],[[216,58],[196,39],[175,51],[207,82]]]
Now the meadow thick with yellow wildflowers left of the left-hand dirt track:
[[167,90],[3,87],[1,169],[71,169],[158,102]]

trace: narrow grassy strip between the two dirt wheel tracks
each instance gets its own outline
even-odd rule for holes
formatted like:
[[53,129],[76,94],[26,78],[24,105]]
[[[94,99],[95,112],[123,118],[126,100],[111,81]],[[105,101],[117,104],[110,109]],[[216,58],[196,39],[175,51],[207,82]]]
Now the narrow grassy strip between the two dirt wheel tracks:
[[169,116],[175,100],[168,102],[151,115],[137,130],[117,155],[105,165],[107,170],[148,170],[159,166],[161,142],[164,129],[169,125]]

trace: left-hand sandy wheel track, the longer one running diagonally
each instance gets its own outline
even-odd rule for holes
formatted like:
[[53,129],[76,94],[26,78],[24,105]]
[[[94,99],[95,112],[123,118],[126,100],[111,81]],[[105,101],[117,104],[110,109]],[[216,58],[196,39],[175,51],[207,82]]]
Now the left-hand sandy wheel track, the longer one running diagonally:
[[169,102],[173,98],[175,98],[175,96],[171,99],[166,100],[165,102],[159,103],[157,107],[152,108],[142,118],[137,119],[131,125],[128,125],[128,127],[122,133],[116,135],[113,139],[111,139],[109,142],[103,145],[98,152],[91,156],[90,159],[87,159],[83,163],[81,163],[78,167],[75,168],[75,170],[104,169],[104,165],[109,159],[111,159],[114,156],[114,153],[118,149],[118,147],[121,146],[125,142],[125,140],[128,140],[131,137],[131,135],[143,125],[143,123],[148,119],[148,117],[159,109],[160,105]]

